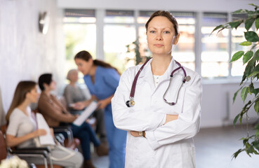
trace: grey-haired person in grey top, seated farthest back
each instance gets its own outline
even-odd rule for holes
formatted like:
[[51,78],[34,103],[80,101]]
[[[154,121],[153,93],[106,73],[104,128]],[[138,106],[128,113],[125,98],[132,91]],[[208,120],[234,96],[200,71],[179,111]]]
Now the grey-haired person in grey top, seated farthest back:
[[[81,111],[81,108],[77,106],[79,102],[91,102],[87,100],[86,94],[83,90],[77,85],[78,80],[78,71],[77,69],[71,69],[67,73],[67,80],[69,84],[65,87],[63,96],[65,97],[69,112],[77,113]],[[104,123],[104,114],[101,109],[95,111],[93,116],[97,119],[96,133],[100,135],[100,140],[105,141],[106,132],[105,132],[105,123]]]

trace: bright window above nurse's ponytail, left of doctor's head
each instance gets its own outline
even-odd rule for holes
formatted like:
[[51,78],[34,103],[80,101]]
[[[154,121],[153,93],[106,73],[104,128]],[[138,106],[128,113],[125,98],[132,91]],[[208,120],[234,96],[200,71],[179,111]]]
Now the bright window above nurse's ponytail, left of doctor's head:
[[136,39],[133,11],[106,10],[104,26],[105,61],[122,73],[127,68],[126,45]]

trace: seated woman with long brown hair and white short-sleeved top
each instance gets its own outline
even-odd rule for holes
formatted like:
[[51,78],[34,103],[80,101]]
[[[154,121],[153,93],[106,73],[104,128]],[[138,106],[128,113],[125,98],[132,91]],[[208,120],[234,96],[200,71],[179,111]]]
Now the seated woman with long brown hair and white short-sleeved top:
[[[29,104],[36,103],[38,97],[39,93],[36,91],[35,82],[21,81],[18,83],[13,96],[13,102],[6,115],[6,121],[8,123],[6,144],[8,146],[17,146],[18,148],[36,147],[34,138],[46,134],[46,130],[36,130],[36,123],[32,118],[31,109],[29,108]],[[81,153],[72,151],[69,148],[67,150],[70,150],[74,155],[66,160],[52,160],[53,164],[62,167],[81,167],[83,162]],[[53,158],[64,158],[67,155],[69,153],[57,147],[51,151]],[[27,162],[33,162],[39,165],[42,164],[42,159],[33,158],[33,160],[27,160]]]

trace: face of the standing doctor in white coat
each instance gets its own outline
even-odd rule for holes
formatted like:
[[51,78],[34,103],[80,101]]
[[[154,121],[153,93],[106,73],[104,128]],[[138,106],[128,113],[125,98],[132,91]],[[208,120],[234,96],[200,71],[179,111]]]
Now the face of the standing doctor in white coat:
[[164,16],[154,17],[147,27],[147,43],[152,55],[171,55],[178,37],[173,23]]

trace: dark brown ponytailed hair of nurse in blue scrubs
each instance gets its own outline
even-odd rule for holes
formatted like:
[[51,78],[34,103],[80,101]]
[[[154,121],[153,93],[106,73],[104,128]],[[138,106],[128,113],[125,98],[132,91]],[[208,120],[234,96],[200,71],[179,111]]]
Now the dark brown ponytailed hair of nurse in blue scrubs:
[[[93,57],[92,57],[92,55],[88,51],[82,50],[82,51],[78,52],[76,56],[74,56],[74,59],[83,59],[86,62],[88,62],[88,60],[89,59],[93,59]],[[99,59],[94,59],[93,60],[93,64],[95,66],[102,66],[102,67],[105,67],[105,68],[115,69],[119,73],[119,71],[114,66],[112,66],[112,65],[110,65],[110,64],[108,64],[106,62],[103,62],[103,61],[101,61]]]

